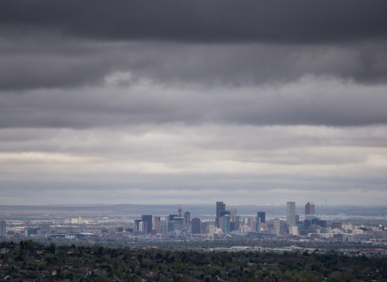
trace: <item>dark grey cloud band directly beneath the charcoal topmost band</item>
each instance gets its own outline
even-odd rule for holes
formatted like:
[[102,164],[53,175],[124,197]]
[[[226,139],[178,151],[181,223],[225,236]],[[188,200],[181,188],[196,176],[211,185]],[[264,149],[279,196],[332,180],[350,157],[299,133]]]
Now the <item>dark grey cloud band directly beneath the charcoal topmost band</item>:
[[106,76],[117,71],[130,72],[132,82],[149,79],[160,84],[209,87],[282,83],[303,75],[386,83],[386,50],[387,41],[316,46],[189,45],[4,35],[0,43],[0,89],[101,85]]

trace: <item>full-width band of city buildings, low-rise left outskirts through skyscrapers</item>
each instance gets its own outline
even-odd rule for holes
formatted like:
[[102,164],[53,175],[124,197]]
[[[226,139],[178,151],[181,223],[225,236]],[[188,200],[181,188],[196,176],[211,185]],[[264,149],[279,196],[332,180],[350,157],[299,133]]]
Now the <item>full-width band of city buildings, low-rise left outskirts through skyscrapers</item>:
[[[137,219],[117,222],[114,219],[71,218],[59,225],[25,222],[22,227],[12,224],[6,230],[5,220],[0,221],[0,237],[64,237],[78,239],[84,237],[101,238],[157,238],[157,239],[218,239],[232,236],[248,237],[303,237],[310,239],[337,239],[341,241],[386,240],[387,233],[382,225],[378,227],[352,226],[338,220],[327,221],[316,215],[315,205],[308,202],[304,214],[296,213],[296,203],[286,203],[284,216],[267,217],[266,211],[252,215],[239,215],[235,206],[227,208],[224,202],[216,202],[215,217],[191,217],[191,212],[182,211],[164,216],[142,214]],[[263,209],[264,210],[264,209]]]

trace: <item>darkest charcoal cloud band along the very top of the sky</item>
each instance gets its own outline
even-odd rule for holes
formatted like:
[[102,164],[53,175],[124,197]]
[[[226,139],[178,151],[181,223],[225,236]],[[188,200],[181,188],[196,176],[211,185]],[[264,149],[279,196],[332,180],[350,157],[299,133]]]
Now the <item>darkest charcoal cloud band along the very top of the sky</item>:
[[1,1],[2,26],[98,39],[317,43],[386,38],[386,1]]

